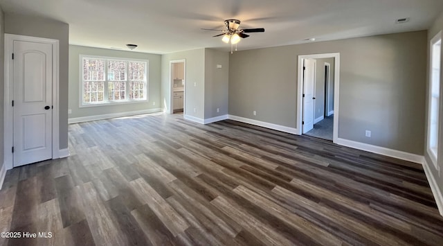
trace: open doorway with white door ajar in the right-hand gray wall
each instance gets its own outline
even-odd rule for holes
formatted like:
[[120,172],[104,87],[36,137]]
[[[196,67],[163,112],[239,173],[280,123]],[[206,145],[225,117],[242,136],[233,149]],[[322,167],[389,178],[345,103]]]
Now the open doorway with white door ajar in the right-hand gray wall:
[[[338,138],[339,53],[298,56],[298,132]],[[335,114],[334,114],[335,113]]]

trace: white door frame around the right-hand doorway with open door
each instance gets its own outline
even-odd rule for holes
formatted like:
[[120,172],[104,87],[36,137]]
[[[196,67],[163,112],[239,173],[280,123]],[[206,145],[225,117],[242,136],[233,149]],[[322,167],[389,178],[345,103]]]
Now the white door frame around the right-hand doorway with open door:
[[298,55],[298,78],[297,78],[297,130],[298,135],[302,134],[302,118],[303,118],[303,59],[320,59],[320,58],[335,58],[334,59],[334,132],[332,141],[336,143],[338,139],[338,89],[340,88],[340,53],[323,53],[313,55]]

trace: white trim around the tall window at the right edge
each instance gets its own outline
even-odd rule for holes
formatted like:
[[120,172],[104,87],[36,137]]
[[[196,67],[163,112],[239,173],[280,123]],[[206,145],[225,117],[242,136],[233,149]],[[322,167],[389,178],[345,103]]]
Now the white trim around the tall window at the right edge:
[[[435,156],[434,152],[431,150],[431,146],[429,146],[430,134],[431,134],[431,103],[432,103],[432,98],[433,98],[432,97],[433,45],[436,44],[439,40],[442,40],[442,31],[437,33],[437,35],[435,35],[431,39],[431,43],[430,43],[431,45],[429,48],[428,118],[427,118],[428,131],[426,132],[426,152],[428,153],[428,157],[431,159],[431,162],[433,163],[433,166],[435,167],[435,169],[437,169],[440,172],[440,166],[438,166],[438,163],[437,163],[437,156]],[[442,40],[442,42],[443,42],[443,40]],[[442,51],[443,51],[443,49],[442,49]],[[441,64],[443,62],[442,51],[440,51],[440,99],[439,99],[439,103],[438,103],[438,105],[439,105],[438,110],[440,112],[442,112],[442,108],[441,108],[441,106],[442,106],[442,103],[441,103],[441,101],[442,101],[441,100],[441,97],[442,97],[442,76],[441,76],[442,69],[441,69],[441,67],[442,66],[441,66]],[[441,115],[439,115],[439,121],[440,121],[440,118],[442,118]],[[438,125],[441,125],[441,122],[439,122]],[[439,132],[438,132],[439,135],[441,135],[440,129],[441,128],[439,127]],[[439,139],[440,138],[437,137],[437,141]],[[440,143],[440,141],[439,141],[439,143],[437,143],[437,146],[438,146],[437,148],[440,149],[442,144],[443,143]],[[438,150],[437,150],[437,152],[438,152]]]

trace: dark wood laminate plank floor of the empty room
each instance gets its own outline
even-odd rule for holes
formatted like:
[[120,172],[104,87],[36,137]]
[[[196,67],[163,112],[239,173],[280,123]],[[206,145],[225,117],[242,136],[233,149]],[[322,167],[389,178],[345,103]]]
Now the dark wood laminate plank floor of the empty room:
[[419,164],[235,121],[69,125],[71,156],[9,170],[3,245],[442,245]]

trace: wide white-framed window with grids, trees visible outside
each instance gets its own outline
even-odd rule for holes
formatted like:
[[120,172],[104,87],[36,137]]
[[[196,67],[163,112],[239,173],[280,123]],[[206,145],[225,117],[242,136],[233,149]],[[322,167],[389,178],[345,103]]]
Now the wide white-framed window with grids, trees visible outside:
[[147,60],[85,55],[80,60],[82,106],[147,100]]

